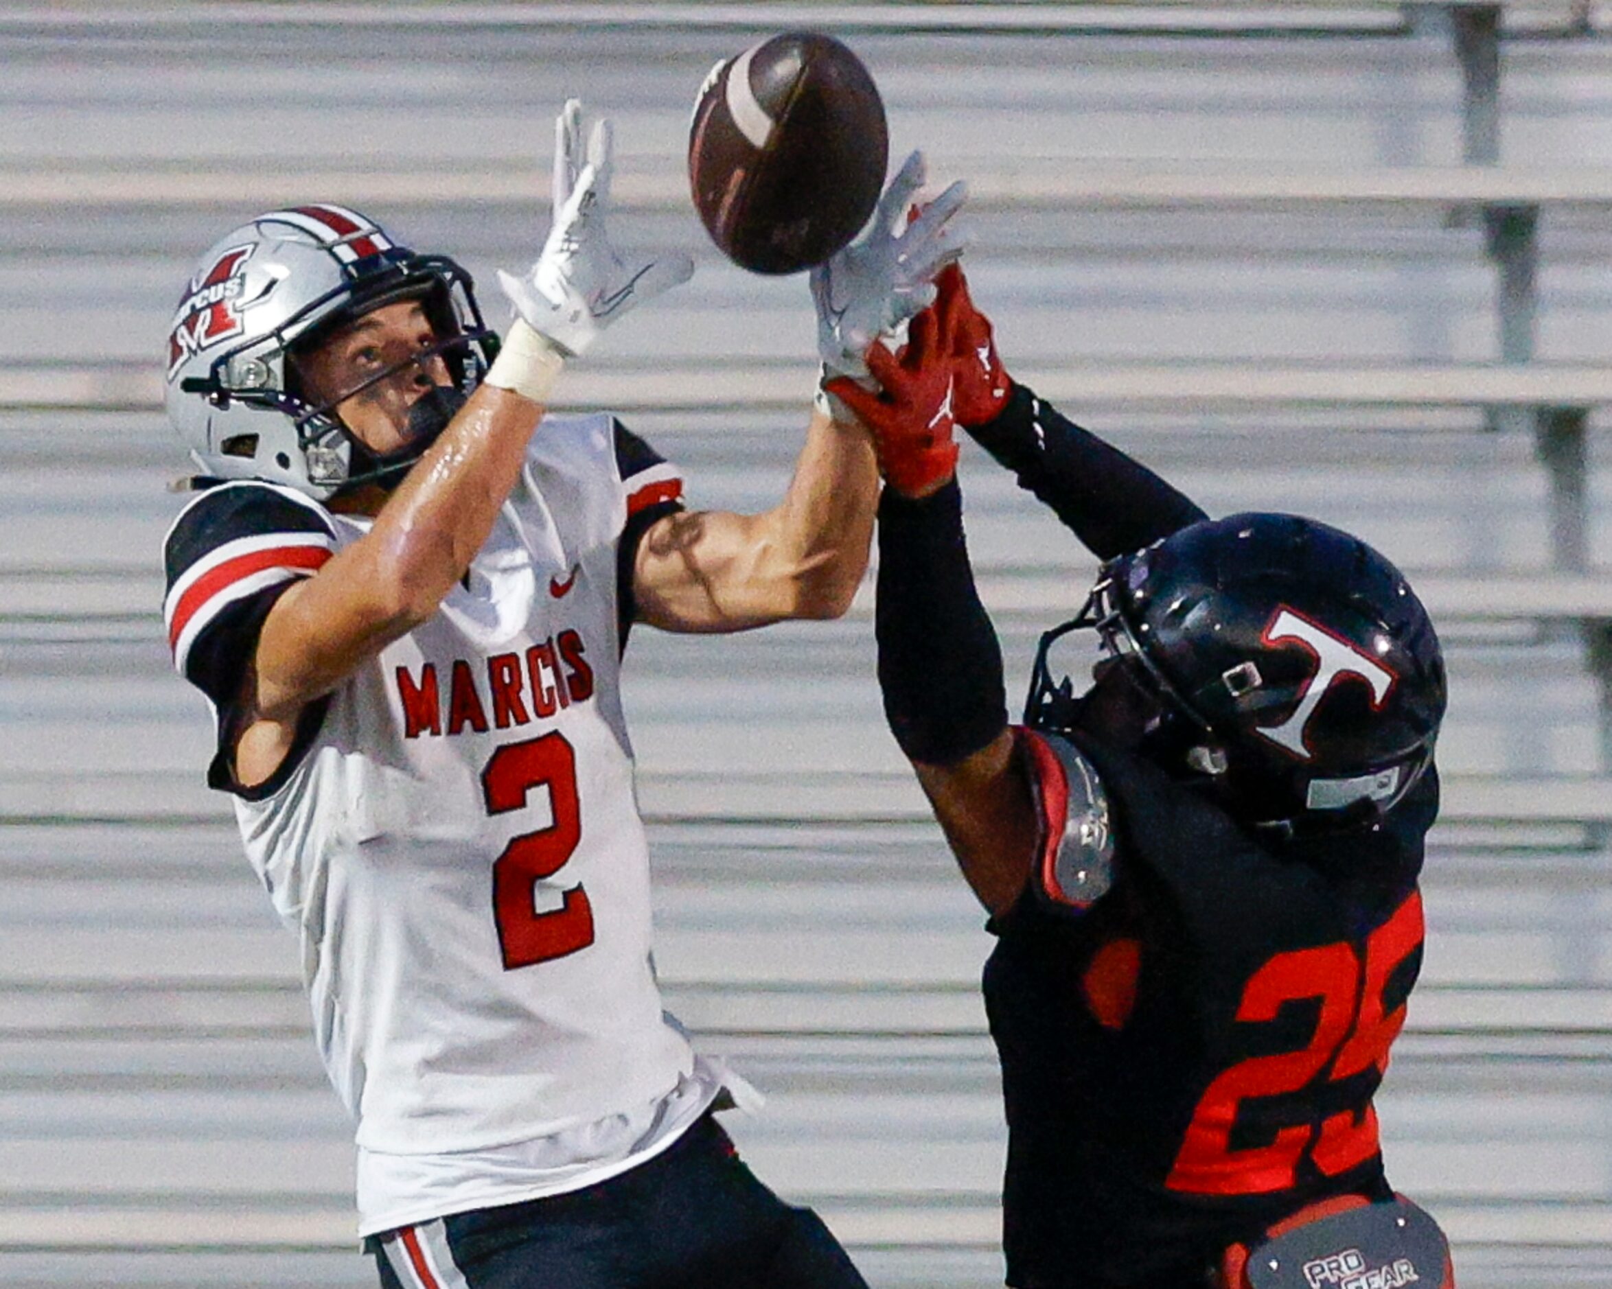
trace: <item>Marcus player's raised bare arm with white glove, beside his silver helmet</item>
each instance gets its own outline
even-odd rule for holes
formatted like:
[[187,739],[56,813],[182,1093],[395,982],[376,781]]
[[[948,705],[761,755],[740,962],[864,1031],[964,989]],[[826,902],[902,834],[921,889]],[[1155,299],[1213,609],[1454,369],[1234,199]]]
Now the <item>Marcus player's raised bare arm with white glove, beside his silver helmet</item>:
[[371,532],[285,591],[264,620],[248,678],[256,720],[240,741],[243,781],[248,762],[279,764],[305,704],[429,619],[464,575],[521,474],[566,358],[693,271],[687,258],[632,264],[616,255],[604,227],[609,126],[595,126],[584,153],[580,105],[571,102],[556,132],[548,240],[522,277],[501,276],[516,319],[485,382]]

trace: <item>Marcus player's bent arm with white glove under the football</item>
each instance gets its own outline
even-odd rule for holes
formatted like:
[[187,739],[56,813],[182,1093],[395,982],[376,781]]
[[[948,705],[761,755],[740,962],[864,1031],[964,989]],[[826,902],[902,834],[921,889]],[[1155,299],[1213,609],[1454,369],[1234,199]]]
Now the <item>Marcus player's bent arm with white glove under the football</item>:
[[[880,198],[866,237],[812,271],[825,379],[866,374],[862,350],[933,298],[932,279],[961,253],[953,184],[906,227],[924,184],[912,153]],[[783,501],[754,516],[674,514],[638,545],[640,620],[675,632],[737,632],[791,617],[838,617],[867,570],[879,477],[866,429],[819,400]]]

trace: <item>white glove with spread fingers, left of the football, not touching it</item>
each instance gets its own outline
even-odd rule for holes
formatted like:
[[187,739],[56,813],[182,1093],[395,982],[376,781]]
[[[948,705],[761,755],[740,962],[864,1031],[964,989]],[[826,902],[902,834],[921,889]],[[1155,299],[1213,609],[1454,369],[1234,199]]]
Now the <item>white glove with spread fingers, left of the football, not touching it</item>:
[[555,121],[555,214],[543,253],[524,277],[500,271],[514,311],[566,356],[584,353],[634,305],[693,277],[695,261],[667,255],[625,263],[609,243],[611,126],[596,121],[582,151],[582,103],[569,100]]

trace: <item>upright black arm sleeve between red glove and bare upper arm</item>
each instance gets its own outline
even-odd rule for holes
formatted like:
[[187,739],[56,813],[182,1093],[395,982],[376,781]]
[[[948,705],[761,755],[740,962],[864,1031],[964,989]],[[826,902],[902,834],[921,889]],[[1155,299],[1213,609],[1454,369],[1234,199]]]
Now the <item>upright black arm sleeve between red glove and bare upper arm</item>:
[[879,503],[879,688],[909,759],[949,765],[1008,728],[1003,656],[974,590],[962,538],[962,493],[951,480]]

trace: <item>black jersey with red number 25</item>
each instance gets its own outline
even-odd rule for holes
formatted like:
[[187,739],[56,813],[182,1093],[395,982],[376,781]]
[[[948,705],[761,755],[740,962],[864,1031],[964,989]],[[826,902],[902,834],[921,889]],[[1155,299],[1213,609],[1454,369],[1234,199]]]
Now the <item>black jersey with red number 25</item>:
[[1420,967],[1436,775],[1373,831],[1275,843],[1070,741],[1107,798],[1112,885],[1080,906],[1037,872],[985,967],[1009,1284],[1199,1289],[1294,1208],[1388,1194],[1372,1094]]

